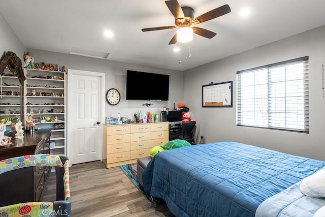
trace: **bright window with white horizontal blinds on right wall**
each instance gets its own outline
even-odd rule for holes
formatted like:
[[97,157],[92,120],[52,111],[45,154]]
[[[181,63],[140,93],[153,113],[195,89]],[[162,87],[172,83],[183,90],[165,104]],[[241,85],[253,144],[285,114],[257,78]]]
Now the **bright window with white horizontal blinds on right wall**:
[[309,132],[308,56],[237,72],[237,125]]

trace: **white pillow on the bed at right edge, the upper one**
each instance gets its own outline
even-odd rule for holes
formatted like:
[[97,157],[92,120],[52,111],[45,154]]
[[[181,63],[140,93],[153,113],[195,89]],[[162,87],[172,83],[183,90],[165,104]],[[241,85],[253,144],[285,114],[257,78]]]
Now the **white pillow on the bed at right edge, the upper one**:
[[325,197],[325,169],[304,178],[300,184],[300,191],[308,197]]

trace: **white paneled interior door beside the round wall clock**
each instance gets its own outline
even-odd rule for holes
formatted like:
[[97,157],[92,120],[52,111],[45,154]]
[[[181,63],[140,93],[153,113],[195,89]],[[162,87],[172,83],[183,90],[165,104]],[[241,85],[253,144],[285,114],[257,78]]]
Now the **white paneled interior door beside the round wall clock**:
[[68,70],[68,157],[71,164],[102,160],[105,74]]

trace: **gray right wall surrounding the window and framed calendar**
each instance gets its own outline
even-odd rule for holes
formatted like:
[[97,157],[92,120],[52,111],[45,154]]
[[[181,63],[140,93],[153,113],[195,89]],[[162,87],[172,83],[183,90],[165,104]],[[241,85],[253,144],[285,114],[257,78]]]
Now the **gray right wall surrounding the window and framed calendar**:
[[[321,65],[325,65],[325,26],[239,53],[186,72],[184,99],[198,121],[198,136],[206,142],[237,141],[299,156],[325,160],[325,99]],[[236,126],[236,72],[309,56],[310,133]],[[233,81],[232,108],[202,108],[202,85]]]

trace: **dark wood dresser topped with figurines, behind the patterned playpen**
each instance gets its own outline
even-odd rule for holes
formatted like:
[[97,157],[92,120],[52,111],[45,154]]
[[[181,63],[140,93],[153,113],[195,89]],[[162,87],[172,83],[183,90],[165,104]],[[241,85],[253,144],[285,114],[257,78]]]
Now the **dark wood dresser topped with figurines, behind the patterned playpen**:
[[[12,136],[12,135],[11,135]],[[11,139],[12,146],[0,148],[0,160],[28,154],[50,153],[51,130],[25,132],[24,138]],[[0,206],[41,201],[51,167],[26,167],[0,175]]]

